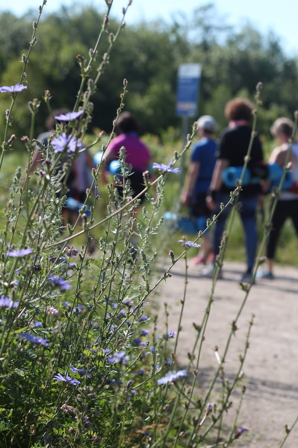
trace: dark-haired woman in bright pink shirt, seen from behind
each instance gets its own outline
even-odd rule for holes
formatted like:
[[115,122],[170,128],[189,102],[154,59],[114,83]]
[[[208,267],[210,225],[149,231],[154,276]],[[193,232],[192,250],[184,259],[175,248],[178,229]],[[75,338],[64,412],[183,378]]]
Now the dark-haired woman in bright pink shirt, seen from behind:
[[[105,166],[112,160],[119,159],[120,148],[125,148],[125,162],[132,165],[132,172],[128,176],[131,186],[130,194],[132,198],[135,198],[145,188],[143,172],[147,171],[151,164],[151,154],[147,146],[140,141],[139,125],[130,112],[120,113],[115,130],[118,135],[113,138],[104,153]],[[122,196],[122,185],[119,183],[116,188]],[[142,194],[139,199],[143,202],[144,198],[145,194]]]

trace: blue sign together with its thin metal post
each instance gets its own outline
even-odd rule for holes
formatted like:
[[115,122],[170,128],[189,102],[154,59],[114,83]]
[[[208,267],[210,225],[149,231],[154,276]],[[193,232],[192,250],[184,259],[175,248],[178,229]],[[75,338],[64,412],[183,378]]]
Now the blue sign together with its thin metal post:
[[[189,117],[198,113],[198,97],[202,66],[200,64],[182,64],[178,69],[176,115],[183,118],[183,147],[186,144]],[[185,153],[181,157],[180,190],[183,189],[185,177]]]

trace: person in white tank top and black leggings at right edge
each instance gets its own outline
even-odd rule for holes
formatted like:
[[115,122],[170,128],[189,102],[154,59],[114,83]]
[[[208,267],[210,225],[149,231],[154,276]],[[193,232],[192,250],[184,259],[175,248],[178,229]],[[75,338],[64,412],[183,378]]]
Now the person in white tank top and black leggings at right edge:
[[[294,128],[293,121],[288,118],[278,118],[270,128],[271,134],[281,142],[269,157],[269,164],[277,163],[281,167],[285,165],[286,155],[289,149],[289,138],[292,136]],[[282,191],[277,201],[277,207],[272,217],[272,229],[267,241],[267,270],[263,271],[259,278],[273,279],[274,255],[277,240],[281,228],[287,218],[291,218],[298,236],[298,142],[294,140],[289,158],[291,172],[293,175],[293,185],[291,190]]]

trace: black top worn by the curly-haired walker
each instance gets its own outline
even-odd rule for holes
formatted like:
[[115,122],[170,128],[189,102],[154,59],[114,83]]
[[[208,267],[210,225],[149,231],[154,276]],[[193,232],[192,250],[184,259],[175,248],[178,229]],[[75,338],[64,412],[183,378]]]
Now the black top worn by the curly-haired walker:
[[[229,161],[229,166],[238,167],[243,166],[244,157],[247,155],[249,142],[251,140],[251,126],[236,126],[235,128],[226,128],[219,143],[217,158],[226,159]],[[248,168],[259,164],[264,159],[262,145],[258,135],[255,138],[251,147],[250,160]],[[260,184],[249,184],[242,187],[242,196],[253,196],[261,193]],[[220,191],[222,193],[230,193],[231,189],[222,184]]]

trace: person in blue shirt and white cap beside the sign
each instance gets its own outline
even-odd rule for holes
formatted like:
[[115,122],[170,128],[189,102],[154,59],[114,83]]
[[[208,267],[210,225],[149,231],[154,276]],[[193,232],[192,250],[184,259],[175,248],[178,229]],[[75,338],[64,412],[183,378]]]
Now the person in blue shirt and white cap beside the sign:
[[[206,220],[210,210],[206,206],[206,196],[210,187],[213,169],[216,163],[217,142],[214,139],[216,121],[210,115],[203,115],[198,120],[199,142],[193,147],[191,163],[187,173],[185,190],[181,196],[182,205],[187,205],[192,218],[196,220],[199,230],[205,230]],[[202,237],[202,247],[197,257],[192,259],[195,264],[212,261],[213,247],[208,234]]]

